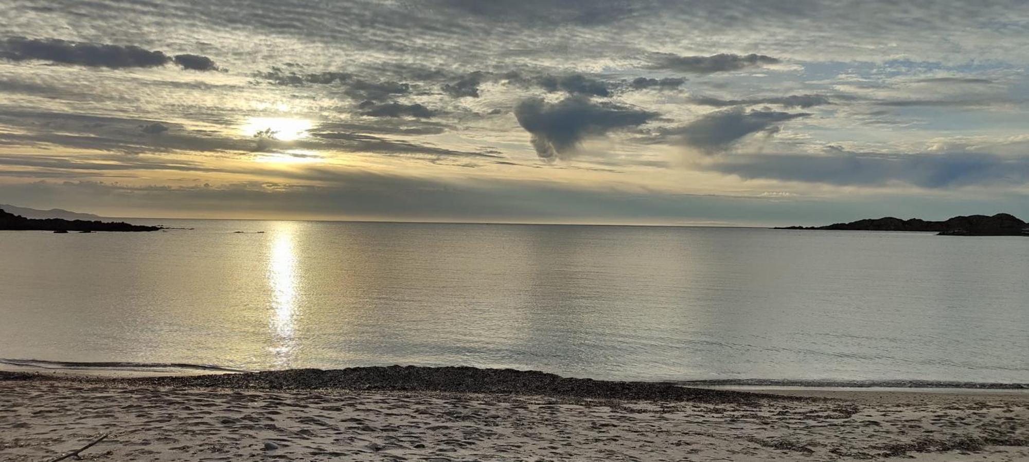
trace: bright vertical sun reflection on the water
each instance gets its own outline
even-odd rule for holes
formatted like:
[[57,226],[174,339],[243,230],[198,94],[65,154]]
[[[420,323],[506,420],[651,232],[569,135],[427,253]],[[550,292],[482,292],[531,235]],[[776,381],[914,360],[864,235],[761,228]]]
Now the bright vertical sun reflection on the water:
[[272,290],[272,335],[275,361],[288,367],[295,347],[295,316],[298,280],[296,275],[295,223],[279,223],[274,231],[268,265],[268,283]]

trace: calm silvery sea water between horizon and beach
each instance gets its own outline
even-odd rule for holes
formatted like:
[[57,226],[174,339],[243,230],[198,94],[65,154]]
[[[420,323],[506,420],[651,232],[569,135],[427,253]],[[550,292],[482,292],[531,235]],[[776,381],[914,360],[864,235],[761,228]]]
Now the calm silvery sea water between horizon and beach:
[[0,357],[1029,382],[1024,237],[134,222],[0,232]]

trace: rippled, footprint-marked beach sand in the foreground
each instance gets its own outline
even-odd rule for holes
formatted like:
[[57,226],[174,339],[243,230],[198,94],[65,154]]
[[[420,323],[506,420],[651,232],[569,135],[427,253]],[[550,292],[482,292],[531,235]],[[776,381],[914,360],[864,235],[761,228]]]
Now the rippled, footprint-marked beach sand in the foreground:
[[0,460],[49,460],[104,433],[83,459],[1029,460],[1027,393],[668,400],[250,385],[0,374]]

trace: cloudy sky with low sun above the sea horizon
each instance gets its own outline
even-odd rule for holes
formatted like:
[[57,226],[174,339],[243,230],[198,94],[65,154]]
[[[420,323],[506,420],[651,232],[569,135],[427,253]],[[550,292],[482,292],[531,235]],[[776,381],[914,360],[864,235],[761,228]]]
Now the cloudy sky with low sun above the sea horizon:
[[1029,2],[0,0],[0,203],[1029,219]]

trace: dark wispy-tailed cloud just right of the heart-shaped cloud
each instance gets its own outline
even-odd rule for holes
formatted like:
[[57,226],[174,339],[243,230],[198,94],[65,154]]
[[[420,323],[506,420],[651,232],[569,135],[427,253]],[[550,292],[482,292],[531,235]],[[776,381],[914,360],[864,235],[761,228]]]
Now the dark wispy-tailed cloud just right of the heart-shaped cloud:
[[746,112],[742,108],[735,108],[706,114],[680,127],[664,129],[660,134],[711,153],[724,150],[751,133],[759,131],[773,133],[778,131],[779,122],[809,115],[811,114],[777,111]]

